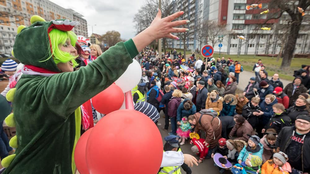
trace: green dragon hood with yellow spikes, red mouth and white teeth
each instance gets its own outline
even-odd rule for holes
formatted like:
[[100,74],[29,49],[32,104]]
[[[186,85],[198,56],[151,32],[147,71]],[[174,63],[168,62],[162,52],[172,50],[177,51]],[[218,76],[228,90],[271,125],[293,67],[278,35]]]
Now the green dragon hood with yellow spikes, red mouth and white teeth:
[[[70,31],[78,22],[60,19],[45,21],[40,16],[32,16],[31,25],[20,25],[13,47],[13,55],[24,65],[38,66],[50,71],[60,72],[53,57],[51,57],[51,42],[49,32],[53,29]],[[47,60],[48,57],[51,57]],[[45,61],[46,60],[46,61]]]

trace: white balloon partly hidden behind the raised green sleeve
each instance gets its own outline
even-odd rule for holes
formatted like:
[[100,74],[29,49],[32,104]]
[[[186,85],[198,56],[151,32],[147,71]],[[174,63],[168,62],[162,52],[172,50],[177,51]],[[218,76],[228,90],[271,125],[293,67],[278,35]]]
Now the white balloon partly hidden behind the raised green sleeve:
[[124,74],[115,81],[115,84],[126,93],[138,85],[141,76],[141,66],[138,61],[133,59],[133,62],[128,66]]

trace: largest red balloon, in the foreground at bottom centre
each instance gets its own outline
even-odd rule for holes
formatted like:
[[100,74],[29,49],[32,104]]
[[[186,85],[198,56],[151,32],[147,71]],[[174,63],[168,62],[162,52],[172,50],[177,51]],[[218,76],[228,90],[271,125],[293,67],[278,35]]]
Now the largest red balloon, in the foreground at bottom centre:
[[154,122],[123,109],[96,124],[86,144],[86,163],[91,174],[156,174],[162,153],[162,136]]

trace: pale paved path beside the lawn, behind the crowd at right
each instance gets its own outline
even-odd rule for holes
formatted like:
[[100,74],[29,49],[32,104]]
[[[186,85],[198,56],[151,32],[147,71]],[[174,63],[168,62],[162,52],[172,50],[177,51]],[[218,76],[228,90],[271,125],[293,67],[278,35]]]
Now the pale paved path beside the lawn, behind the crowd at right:
[[[273,76],[273,74],[268,74],[268,79],[270,80],[272,78],[272,76]],[[251,77],[255,77],[254,72],[250,72],[250,71],[241,72],[239,74],[239,84],[237,85],[237,88],[243,91],[246,88],[246,85],[248,85]],[[283,83],[284,88],[287,84],[292,82],[289,80],[281,79],[281,76],[279,77],[279,79]]]

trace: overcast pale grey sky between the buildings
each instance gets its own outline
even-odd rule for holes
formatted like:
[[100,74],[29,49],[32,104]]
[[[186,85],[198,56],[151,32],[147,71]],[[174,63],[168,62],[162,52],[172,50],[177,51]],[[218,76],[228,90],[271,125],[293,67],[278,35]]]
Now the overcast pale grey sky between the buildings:
[[109,30],[116,30],[122,39],[135,36],[133,17],[144,4],[144,0],[50,0],[55,4],[71,8],[82,14],[87,21],[88,36],[91,26],[94,33],[105,34]]

